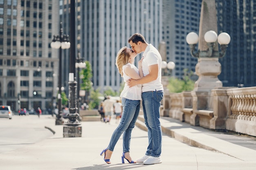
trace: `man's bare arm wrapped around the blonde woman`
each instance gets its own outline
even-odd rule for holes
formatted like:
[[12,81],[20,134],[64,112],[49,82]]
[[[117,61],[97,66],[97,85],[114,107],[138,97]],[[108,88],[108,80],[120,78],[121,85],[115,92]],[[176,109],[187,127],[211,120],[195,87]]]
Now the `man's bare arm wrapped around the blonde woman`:
[[158,76],[158,64],[148,66],[149,74],[141,79],[129,79],[127,84],[129,87],[136,86],[137,84],[145,84],[157,79]]

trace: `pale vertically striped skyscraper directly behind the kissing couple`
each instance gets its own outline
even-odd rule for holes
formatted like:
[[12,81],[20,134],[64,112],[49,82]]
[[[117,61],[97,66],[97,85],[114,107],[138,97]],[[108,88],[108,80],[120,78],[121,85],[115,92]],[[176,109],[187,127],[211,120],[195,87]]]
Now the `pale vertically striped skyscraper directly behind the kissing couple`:
[[[63,0],[61,20],[68,5]],[[115,65],[117,52],[128,46],[133,33],[144,35],[158,48],[162,40],[162,0],[81,0],[77,1],[77,51],[90,62],[94,89],[119,91],[121,78]],[[65,29],[65,27],[64,27]],[[141,55],[136,57],[135,64]]]

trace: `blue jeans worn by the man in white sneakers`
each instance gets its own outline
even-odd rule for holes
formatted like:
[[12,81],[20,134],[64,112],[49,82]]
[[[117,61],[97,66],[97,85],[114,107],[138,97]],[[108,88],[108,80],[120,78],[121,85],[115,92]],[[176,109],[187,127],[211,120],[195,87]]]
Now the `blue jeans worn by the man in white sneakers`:
[[160,124],[160,102],[164,91],[142,93],[142,106],[145,124],[148,128],[148,148],[145,155],[159,157],[162,148],[162,129]]

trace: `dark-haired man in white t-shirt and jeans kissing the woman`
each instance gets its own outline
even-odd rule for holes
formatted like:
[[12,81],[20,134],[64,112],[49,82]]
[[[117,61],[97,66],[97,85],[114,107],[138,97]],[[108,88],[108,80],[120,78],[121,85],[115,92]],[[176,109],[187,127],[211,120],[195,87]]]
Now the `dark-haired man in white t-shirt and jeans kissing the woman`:
[[162,129],[159,121],[160,102],[164,96],[164,88],[161,84],[162,57],[157,49],[145,41],[140,33],[132,35],[128,42],[136,53],[143,53],[142,71],[144,77],[141,79],[130,79],[129,87],[142,84],[142,106],[145,124],[148,128],[148,148],[146,154],[137,159],[146,165],[162,163],[160,158],[162,152]]

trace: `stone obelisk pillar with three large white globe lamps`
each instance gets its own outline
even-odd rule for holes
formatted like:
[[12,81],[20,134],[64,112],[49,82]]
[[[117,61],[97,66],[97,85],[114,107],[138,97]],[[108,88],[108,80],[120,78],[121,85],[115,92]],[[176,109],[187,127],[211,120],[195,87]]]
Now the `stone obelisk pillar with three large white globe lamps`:
[[[199,24],[199,36],[191,32],[186,36],[190,52],[193,57],[198,58],[195,73],[199,76],[195,82],[194,91],[210,91],[213,88],[222,87],[218,79],[221,73],[219,58],[224,57],[227,44],[230,42],[228,33],[217,35],[217,18],[215,0],[203,0]],[[218,50],[218,43],[221,51]],[[198,43],[199,42],[199,43]],[[195,45],[198,43],[198,51]]]

